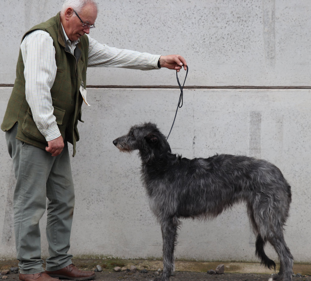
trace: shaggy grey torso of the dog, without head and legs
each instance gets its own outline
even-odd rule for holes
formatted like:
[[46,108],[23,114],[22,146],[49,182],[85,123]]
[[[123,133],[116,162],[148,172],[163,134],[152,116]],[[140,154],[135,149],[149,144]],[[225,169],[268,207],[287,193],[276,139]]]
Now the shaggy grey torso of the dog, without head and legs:
[[[290,185],[265,160],[228,154],[187,159],[167,152],[153,162],[155,165],[143,164],[142,179],[158,218],[175,214],[212,218],[240,201],[262,207],[273,203],[281,209],[283,223],[288,215]],[[266,210],[272,212],[273,208]]]

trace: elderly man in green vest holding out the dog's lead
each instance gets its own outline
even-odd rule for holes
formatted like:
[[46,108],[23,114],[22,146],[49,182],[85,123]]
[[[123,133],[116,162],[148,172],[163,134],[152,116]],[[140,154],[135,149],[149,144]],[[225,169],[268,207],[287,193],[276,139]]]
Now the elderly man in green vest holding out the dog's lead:
[[[31,28],[22,39],[16,80],[1,125],[16,177],[14,229],[21,281],[95,277],[92,271],[77,269],[67,253],[74,209],[67,142],[75,154],[86,68],[186,69],[179,55],[99,44],[88,36],[96,17],[94,0],[67,0],[60,13]],[[46,197],[49,257],[44,271],[39,220],[46,210]]]

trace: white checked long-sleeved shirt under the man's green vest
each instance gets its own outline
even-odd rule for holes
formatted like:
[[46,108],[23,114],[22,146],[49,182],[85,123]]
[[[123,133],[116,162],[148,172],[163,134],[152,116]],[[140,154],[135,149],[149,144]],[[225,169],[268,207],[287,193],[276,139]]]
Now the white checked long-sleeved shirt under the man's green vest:
[[[72,54],[80,39],[71,43],[64,29],[65,40]],[[88,35],[87,35],[88,36]],[[160,55],[139,53],[136,51],[111,48],[89,38],[88,67],[123,67],[140,70],[158,69]],[[21,53],[25,65],[26,100],[34,121],[46,141],[61,136],[50,90],[56,77],[56,61],[53,40],[48,32],[35,30],[21,43]]]

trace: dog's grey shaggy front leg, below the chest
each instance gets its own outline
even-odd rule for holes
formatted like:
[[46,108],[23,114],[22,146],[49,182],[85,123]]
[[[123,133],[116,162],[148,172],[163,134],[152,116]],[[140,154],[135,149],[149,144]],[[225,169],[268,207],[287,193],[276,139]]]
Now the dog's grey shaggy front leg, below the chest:
[[177,242],[177,228],[180,222],[176,216],[161,222],[163,238],[163,274],[161,281],[168,281],[169,276],[174,274],[174,247]]

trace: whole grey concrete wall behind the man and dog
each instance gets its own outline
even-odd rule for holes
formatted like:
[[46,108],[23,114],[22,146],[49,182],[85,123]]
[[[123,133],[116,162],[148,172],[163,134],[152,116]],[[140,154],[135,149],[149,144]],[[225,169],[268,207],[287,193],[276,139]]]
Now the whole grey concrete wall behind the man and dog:
[[[14,30],[2,34],[0,84],[14,83],[23,33],[56,14],[62,4],[13,2],[2,0],[0,12],[2,30],[7,30],[5,23]],[[185,85],[193,88],[184,90],[184,105],[169,137],[173,152],[188,158],[245,154],[276,164],[292,186],[285,238],[296,262],[311,262],[310,10],[309,0],[106,0],[99,3],[91,31],[110,46],[180,53],[187,59]],[[184,75],[182,71],[180,80]],[[179,98],[179,90],[169,88],[177,85],[175,72],[96,68],[88,71],[88,84],[167,87],[88,89],[91,106],[83,106],[85,123],[79,125],[81,140],[72,159],[76,209],[70,251],[75,256],[160,257],[160,227],[140,182],[139,158],[119,153],[112,141],[144,121],[156,122],[168,134]],[[231,85],[249,87],[216,89]],[[0,87],[0,120],[11,90]],[[14,176],[4,133],[0,142],[0,258],[14,258]],[[176,256],[257,261],[254,242],[245,206],[236,205],[212,221],[184,220]],[[276,258],[272,248],[267,253]]]

